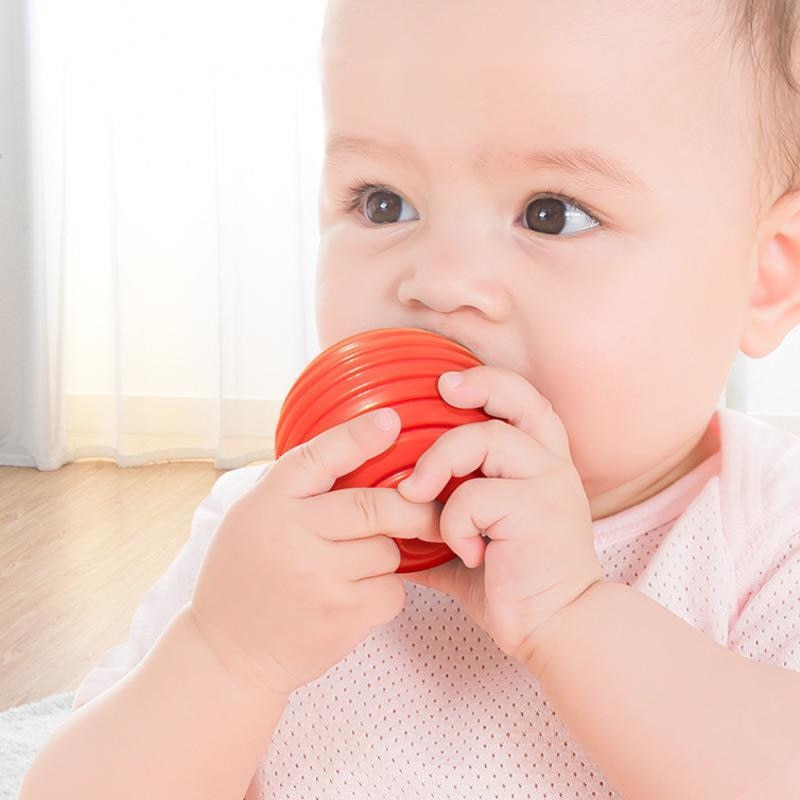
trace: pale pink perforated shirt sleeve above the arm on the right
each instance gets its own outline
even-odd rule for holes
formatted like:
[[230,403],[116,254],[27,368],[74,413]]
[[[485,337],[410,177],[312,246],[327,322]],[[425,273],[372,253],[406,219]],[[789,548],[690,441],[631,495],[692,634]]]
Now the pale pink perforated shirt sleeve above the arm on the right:
[[754,661],[800,672],[800,530],[758,569],[728,646]]

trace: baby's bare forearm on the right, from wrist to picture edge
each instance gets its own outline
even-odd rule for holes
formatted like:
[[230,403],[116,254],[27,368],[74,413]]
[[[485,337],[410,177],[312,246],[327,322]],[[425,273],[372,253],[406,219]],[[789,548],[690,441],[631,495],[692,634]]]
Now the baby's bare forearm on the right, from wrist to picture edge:
[[800,796],[800,674],[726,649],[636,589],[591,586],[542,627],[534,659],[625,800]]

